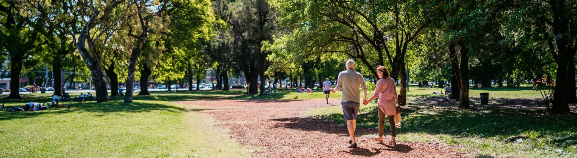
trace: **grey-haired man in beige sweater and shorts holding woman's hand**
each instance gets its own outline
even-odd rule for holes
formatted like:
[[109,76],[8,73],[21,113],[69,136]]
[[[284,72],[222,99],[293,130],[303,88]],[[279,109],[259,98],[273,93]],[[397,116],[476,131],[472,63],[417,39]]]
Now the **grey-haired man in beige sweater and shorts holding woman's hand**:
[[361,73],[355,71],[355,61],[353,59],[347,60],[345,67],[347,70],[339,73],[336,88],[331,88],[331,91],[336,93],[336,91],[343,90],[340,105],[343,107],[344,120],[347,121],[347,129],[349,129],[349,148],[357,148],[355,129],[357,129],[357,114],[359,106],[361,106],[359,86],[363,89],[363,101],[366,101],[367,89],[365,79]]

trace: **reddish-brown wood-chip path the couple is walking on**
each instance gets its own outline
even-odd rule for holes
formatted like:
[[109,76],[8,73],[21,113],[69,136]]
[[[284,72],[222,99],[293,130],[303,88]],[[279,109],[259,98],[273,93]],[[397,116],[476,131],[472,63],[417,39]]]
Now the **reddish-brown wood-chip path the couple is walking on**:
[[373,141],[371,136],[361,136],[376,133],[374,129],[357,129],[358,148],[347,148],[346,128],[302,115],[309,109],[336,103],[340,106],[340,99],[329,102],[334,104],[327,105],[324,99],[205,99],[181,103],[203,106],[203,113],[222,121],[219,125],[230,129],[240,144],[255,147],[258,157],[461,157],[458,149],[447,145],[397,140],[397,145],[391,147]]

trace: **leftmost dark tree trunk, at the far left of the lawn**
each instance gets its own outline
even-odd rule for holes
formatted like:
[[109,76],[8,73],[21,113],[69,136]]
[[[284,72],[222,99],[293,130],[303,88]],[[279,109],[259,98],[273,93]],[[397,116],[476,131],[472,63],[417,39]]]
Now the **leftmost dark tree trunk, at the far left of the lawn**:
[[6,99],[22,99],[20,97],[20,72],[22,72],[22,57],[11,56],[10,59],[10,95]]

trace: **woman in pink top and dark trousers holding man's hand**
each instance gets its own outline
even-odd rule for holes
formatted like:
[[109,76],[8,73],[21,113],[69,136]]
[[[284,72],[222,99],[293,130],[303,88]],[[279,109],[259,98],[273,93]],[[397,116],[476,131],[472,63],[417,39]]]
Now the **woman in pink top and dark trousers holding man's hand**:
[[395,115],[396,115],[396,101],[397,93],[395,87],[395,79],[389,76],[389,71],[383,66],[377,67],[377,75],[379,75],[379,81],[374,89],[373,96],[370,97],[368,101],[363,102],[367,105],[373,99],[379,98],[377,102],[379,109],[379,137],[374,139],[383,143],[383,130],[385,123],[385,115],[388,117],[389,126],[391,126],[391,140],[389,145],[396,145],[395,137]]

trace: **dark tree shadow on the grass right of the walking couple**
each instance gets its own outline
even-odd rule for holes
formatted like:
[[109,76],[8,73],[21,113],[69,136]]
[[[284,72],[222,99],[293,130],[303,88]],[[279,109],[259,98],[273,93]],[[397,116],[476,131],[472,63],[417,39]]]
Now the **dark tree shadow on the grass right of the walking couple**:
[[[562,147],[577,144],[577,114],[548,114],[538,99],[495,99],[494,105],[472,105],[472,109],[459,109],[454,101],[443,98],[411,98],[404,106],[402,118],[403,132],[451,134],[461,137],[497,137],[504,140],[509,136],[535,131],[540,135],[555,136],[551,140]],[[506,103],[505,105],[499,105]],[[504,108],[503,108],[504,107]],[[575,110],[575,106],[572,106]],[[374,129],[378,127],[377,109],[359,111],[357,127]],[[344,127],[342,113],[320,116]],[[291,123],[294,124],[294,123]],[[388,125],[385,125],[388,128]],[[358,129],[357,129],[358,130]],[[324,130],[320,130],[324,132]]]

